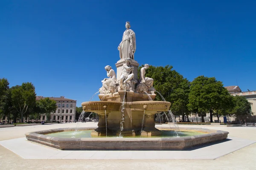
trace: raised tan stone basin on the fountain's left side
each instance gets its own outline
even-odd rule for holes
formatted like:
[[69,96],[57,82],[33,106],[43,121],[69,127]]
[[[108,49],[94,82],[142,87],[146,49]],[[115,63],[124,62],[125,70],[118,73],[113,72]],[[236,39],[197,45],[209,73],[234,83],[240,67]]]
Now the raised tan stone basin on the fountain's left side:
[[84,111],[89,112],[98,112],[98,111],[105,111],[104,106],[106,107],[106,111],[119,111],[120,106],[122,105],[121,102],[108,102],[108,101],[97,101],[97,102],[82,102],[82,107],[85,106]]

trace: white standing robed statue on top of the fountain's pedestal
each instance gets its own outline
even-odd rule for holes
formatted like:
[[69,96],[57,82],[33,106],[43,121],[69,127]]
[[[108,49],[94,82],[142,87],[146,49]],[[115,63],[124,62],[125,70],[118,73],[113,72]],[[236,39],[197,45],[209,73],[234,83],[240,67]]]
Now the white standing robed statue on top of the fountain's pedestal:
[[126,22],[125,32],[122,37],[122,41],[118,46],[120,59],[131,58],[134,59],[134,53],[136,51],[136,38],[135,33],[130,28],[130,23]]

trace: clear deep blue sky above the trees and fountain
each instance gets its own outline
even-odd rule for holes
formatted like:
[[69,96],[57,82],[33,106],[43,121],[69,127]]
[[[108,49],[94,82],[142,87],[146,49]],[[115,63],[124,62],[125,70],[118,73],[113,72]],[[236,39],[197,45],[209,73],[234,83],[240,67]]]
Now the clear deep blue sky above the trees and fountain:
[[140,65],[256,90],[255,8],[255,0],[1,0],[0,78],[80,106],[102,86],[105,65],[116,70],[129,21]]

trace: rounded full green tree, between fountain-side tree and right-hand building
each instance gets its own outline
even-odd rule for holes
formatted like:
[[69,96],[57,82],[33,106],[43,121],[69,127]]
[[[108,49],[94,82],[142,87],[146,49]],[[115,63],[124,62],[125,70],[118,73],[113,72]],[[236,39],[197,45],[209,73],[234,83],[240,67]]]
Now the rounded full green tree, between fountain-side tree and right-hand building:
[[189,93],[189,109],[201,112],[202,122],[204,114],[210,113],[210,122],[214,110],[218,110],[224,105],[223,99],[229,96],[222,82],[215,77],[199,76],[191,82]]

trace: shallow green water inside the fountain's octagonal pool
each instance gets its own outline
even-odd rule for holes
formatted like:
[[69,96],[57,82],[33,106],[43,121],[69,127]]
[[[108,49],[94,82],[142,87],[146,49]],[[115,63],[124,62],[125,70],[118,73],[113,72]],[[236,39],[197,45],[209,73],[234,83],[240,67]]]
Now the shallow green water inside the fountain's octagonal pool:
[[[91,136],[92,130],[79,130],[79,131],[64,131],[64,132],[57,132],[57,133],[49,133],[47,135],[49,136],[55,136],[55,137],[62,137],[62,138],[104,138],[106,136]],[[162,130],[162,135],[160,136],[125,136],[132,137],[132,138],[159,138],[159,137],[185,137],[185,136],[195,136],[195,135],[201,135],[205,134],[203,132],[198,131],[180,131],[178,133],[175,133],[174,130]],[[115,134],[109,134],[108,137],[116,137]]]

